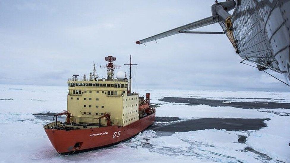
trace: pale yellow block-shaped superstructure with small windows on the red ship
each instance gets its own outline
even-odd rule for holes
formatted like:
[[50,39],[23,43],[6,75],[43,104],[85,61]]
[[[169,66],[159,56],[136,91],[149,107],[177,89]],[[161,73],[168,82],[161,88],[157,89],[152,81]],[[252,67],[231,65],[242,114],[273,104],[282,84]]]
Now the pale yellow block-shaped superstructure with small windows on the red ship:
[[[112,125],[125,126],[139,119],[138,94],[128,94],[128,80],[68,80],[67,110],[72,121],[98,124],[99,117],[111,115]],[[105,119],[101,119],[105,125]]]

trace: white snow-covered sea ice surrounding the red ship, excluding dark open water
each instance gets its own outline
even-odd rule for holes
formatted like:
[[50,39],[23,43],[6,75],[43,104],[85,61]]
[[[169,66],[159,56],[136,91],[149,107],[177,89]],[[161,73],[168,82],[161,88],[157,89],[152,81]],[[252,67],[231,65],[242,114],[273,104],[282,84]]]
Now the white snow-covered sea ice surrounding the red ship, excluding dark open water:
[[[159,105],[156,115],[197,118],[270,118],[258,131],[205,129],[162,136],[144,131],[109,148],[59,155],[41,120],[31,113],[66,109],[67,87],[0,85],[0,162],[290,162],[289,109],[240,109],[161,102],[163,96],[290,103],[289,92],[140,90]],[[164,123],[166,124],[166,123]],[[247,137],[239,142],[241,136]],[[252,149],[252,150],[249,150]]]

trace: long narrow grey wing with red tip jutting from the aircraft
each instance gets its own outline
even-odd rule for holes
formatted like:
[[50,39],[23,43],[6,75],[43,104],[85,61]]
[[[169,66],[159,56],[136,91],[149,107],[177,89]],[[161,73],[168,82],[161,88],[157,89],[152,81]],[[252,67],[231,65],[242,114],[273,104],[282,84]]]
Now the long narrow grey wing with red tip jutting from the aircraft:
[[210,16],[210,17],[207,17],[207,18],[204,18],[204,19],[201,19],[201,20],[197,20],[195,22],[192,22],[192,23],[189,23],[189,24],[186,24],[186,25],[171,29],[169,31],[166,31],[166,32],[163,32],[163,33],[160,33],[160,34],[156,34],[156,35],[148,37],[146,39],[142,39],[142,40],[136,41],[136,44],[144,44],[145,42],[150,42],[150,41],[154,41],[154,40],[157,40],[157,39],[162,39],[164,37],[168,37],[168,36],[171,36],[171,35],[174,35],[174,34],[178,34],[181,31],[189,31],[189,30],[200,28],[200,27],[203,27],[203,26],[208,26],[210,24],[214,24],[214,23],[217,23],[217,22],[218,22],[218,15],[213,15],[213,16]]

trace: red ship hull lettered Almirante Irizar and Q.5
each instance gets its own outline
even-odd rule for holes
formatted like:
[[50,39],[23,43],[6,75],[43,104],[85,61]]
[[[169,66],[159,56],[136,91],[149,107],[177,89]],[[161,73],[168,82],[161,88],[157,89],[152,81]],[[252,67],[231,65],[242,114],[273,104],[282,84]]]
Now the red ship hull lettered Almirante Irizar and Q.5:
[[142,132],[155,121],[155,112],[128,124],[94,129],[57,130],[45,129],[51,144],[60,154],[89,151],[115,145]]

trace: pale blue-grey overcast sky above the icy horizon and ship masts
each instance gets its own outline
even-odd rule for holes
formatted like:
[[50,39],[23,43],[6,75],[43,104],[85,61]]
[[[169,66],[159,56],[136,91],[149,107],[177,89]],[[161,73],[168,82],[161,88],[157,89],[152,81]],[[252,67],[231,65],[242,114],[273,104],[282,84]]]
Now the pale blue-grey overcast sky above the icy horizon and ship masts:
[[[225,35],[178,34],[146,47],[135,44],[210,16],[212,4],[214,0],[0,1],[0,84],[65,86],[71,75],[89,74],[93,62],[104,76],[99,66],[106,64],[105,56],[116,56],[115,64],[122,66],[132,54],[138,88],[289,90],[240,64]],[[214,24],[197,31],[221,28]]]

